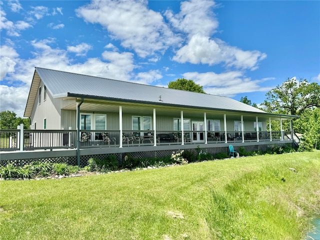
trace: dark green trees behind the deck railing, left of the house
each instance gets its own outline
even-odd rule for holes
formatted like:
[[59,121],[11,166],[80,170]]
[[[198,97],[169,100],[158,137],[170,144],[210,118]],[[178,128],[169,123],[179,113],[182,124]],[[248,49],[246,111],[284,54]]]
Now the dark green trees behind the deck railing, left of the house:
[[13,111],[0,112],[0,129],[16,129],[18,125],[23,123],[23,128],[27,129],[30,126],[29,118],[17,117]]

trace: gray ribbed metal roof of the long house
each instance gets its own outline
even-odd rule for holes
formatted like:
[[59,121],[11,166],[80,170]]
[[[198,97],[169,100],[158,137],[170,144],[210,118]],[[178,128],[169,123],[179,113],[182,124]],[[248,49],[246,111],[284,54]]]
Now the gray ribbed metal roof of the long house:
[[[35,71],[53,97],[85,95],[88,98],[112,98],[150,104],[266,113],[226,96],[144,85],[40,67],[35,67]],[[159,101],[159,95],[161,95],[161,101]]]

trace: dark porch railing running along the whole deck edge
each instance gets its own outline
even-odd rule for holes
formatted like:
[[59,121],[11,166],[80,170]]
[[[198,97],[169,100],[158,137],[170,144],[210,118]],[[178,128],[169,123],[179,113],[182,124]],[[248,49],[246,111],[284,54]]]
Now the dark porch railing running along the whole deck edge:
[[[23,127],[23,126],[22,126]],[[22,132],[22,138],[20,137]],[[76,130],[1,129],[0,150],[76,148]],[[80,130],[79,147],[241,142],[242,131]],[[290,140],[290,131],[244,131],[244,141]]]

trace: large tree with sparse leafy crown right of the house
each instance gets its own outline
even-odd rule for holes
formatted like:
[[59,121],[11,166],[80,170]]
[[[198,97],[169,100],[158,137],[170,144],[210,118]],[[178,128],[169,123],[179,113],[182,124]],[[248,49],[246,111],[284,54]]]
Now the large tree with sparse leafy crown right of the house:
[[265,95],[263,105],[270,112],[300,115],[306,109],[320,107],[320,85],[302,78],[288,77]]

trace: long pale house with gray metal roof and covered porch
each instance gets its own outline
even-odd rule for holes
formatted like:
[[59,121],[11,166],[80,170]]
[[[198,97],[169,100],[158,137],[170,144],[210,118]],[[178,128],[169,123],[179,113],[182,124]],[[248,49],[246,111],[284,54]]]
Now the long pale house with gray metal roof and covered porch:
[[[103,154],[221,149],[230,142],[266,147],[292,134],[272,131],[270,121],[297,116],[267,113],[226,96],[35,67],[24,117],[34,131],[76,131],[50,137],[61,142],[56,147],[76,147],[79,158],[85,148]],[[33,148],[48,141],[47,135],[31,138]]]

